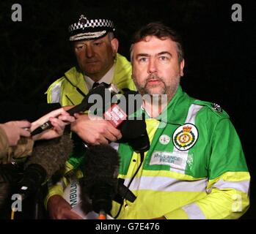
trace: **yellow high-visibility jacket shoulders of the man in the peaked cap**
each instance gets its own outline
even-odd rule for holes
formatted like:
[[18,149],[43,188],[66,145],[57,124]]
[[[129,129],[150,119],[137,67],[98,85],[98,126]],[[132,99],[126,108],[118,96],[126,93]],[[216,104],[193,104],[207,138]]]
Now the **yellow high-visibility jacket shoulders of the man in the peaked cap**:
[[[117,53],[114,64],[114,77],[111,83],[116,84],[120,89],[136,90],[131,79],[130,62]],[[83,73],[77,67],[72,67],[62,78],[52,83],[46,93],[48,103],[59,102],[62,106],[78,105],[88,93],[88,88]]]

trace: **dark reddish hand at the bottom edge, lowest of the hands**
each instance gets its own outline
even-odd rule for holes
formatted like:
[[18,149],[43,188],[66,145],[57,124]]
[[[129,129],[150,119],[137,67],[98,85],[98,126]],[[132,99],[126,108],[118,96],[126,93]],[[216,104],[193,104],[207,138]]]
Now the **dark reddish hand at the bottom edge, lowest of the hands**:
[[60,195],[54,195],[48,200],[47,210],[51,219],[83,219],[71,209],[71,205]]

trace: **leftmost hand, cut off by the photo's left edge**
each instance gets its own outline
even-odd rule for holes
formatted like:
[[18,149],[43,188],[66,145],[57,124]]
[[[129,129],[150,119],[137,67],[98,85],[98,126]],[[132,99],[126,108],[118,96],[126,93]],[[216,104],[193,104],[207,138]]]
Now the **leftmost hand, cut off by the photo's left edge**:
[[5,124],[0,124],[0,127],[4,129],[7,135],[9,146],[16,146],[21,136],[30,137],[30,132],[25,129],[29,129],[31,125],[29,121],[10,121]]

